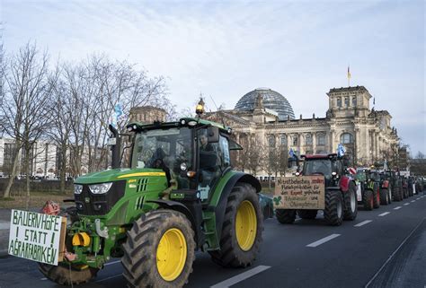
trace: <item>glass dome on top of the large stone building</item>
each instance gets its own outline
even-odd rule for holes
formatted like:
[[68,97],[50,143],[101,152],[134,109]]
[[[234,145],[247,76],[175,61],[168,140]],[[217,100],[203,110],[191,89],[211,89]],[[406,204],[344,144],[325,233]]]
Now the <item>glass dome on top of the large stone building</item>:
[[278,113],[280,120],[287,120],[295,118],[295,113],[288,100],[279,92],[275,92],[269,88],[257,88],[252,92],[245,94],[235,105],[236,110],[253,110],[257,95],[261,94],[263,98],[263,107],[266,109],[274,110]]

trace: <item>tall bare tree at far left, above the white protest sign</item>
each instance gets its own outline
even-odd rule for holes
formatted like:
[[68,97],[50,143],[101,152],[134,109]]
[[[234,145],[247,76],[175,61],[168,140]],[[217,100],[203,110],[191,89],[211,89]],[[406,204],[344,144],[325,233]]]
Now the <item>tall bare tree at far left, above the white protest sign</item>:
[[50,111],[48,100],[52,92],[49,81],[49,57],[40,55],[35,45],[28,43],[8,59],[4,69],[4,105],[2,127],[17,147],[13,159],[12,175],[4,191],[10,196],[13,179],[17,175],[19,153],[23,152],[23,169],[26,175],[27,207],[30,205],[30,163],[34,144],[48,127]]

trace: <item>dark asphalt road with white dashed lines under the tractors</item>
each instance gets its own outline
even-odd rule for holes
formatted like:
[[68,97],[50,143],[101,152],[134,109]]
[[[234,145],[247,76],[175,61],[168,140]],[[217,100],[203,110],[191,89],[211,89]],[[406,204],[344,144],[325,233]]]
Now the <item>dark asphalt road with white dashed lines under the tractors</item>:
[[[398,208],[400,207],[400,208]],[[186,287],[426,287],[426,196],[359,211],[355,221],[332,227],[321,216],[282,225],[265,221],[262,251],[253,266],[226,269],[198,253]],[[90,284],[125,287],[120,261],[111,261]],[[0,258],[0,288],[62,287],[37,264]]]

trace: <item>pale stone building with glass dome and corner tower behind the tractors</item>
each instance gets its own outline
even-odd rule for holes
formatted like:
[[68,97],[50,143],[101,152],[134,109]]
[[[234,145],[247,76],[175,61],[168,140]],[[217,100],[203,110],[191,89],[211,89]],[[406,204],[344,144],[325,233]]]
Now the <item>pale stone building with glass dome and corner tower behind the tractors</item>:
[[325,118],[315,114],[312,118],[294,118],[288,100],[271,89],[260,88],[246,95],[235,109],[206,116],[233,127],[240,144],[254,138],[262,147],[291,149],[297,155],[335,153],[338,144],[342,144],[356,166],[389,161],[398,151],[399,138],[391,126],[391,115],[386,110],[370,109],[372,96],[363,86],[327,92],[329,109]]

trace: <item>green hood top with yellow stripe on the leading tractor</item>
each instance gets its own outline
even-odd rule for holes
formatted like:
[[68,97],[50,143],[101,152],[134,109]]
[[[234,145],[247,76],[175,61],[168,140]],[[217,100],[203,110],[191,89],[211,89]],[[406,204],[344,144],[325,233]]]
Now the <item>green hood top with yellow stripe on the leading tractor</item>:
[[161,169],[112,169],[86,174],[75,179],[75,184],[96,184],[148,176],[164,176]]

